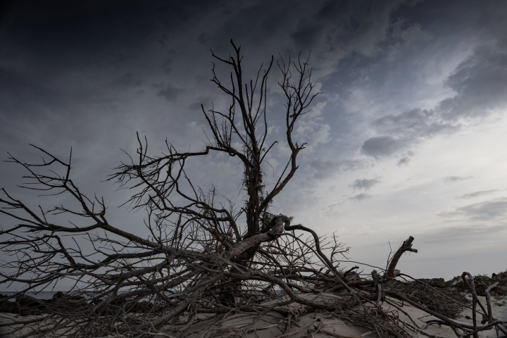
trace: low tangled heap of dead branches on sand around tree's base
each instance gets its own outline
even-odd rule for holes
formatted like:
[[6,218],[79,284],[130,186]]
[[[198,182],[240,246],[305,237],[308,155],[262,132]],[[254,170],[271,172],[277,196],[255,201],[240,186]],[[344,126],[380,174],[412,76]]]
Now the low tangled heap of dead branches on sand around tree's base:
[[[379,337],[424,334],[423,327],[401,322],[392,313],[383,311],[382,304],[396,306],[394,300],[401,300],[438,318],[427,320],[427,324],[449,325],[457,337],[477,336],[477,332],[491,327],[506,333],[506,323],[496,320],[491,309],[491,291],[499,282],[484,289],[487,302],[483,304],[477,298],[474,278],[463,273],[461,282],[467,285],[473,297],[472,304],[467,304],[461,294],[456,290],[449,291],[449,287],[438,279],[400,281],[400,278],[410,279],[396,270],[396,263],[404,252],[417,252],[412,248],[413,237],[403,242],[394,253],[382,275],[374,270],[370,278],[365,278],[354,271],[357,267],[346,271],[335,268],[336,263],[333,264],[321,251],[320,239],[311,230],[304,230],[301,225],[289,225],[284,216],[273,219],[275,227],[284,222],[285,231],[273,232],[278,239],[263,246],[262,253],[256,255],[249,266],[211,252],[206,258],[206,255],[194,258],[192,264],[186,266],[182,265],[184,259],[179,257],[174,259],[173,266],[165,265],[164,269],[160,265],[158,269],[145,268],[144,275],[151,274],[151,278],[141,283],[132,282],[128,277],[109,275],[108,282],[103,285],[96,282],[76,287],[73,294],[79,296],[58,292],[50,301],[44,301],[18,295],[15,302],[4,299],[2,308],[4,312],[32,315],[29,320],[18,320],[18,324],[29,323],[33,334],[50,337],[187,337],[192,325],[209,320],[210,315],[214,321],[220,322],[234,313],[254,314],[249,325],[240,327],[242,330],[221,328],[222,337],[235,337],[238,331],[250,333],[249,327],[273,311],[286,318],[287,324],[280,332],[280,337],[285,337],[283,334],[294,325],[291,323],[293,318],[318,310],[347,323],[368,327]],[[282,234],[296,229],[309,231],[313,236],[303,241],[291,234],[290,239],[297,239],[289,241],[293,246],[288,250]],[[184,258],[190,261],[193,257]],[[317,259],[309,261],[308,258]],[[177,272],[161,273],[161,277],[155,278],[154,270],[169,269]],[[337,297],[311,300],[308,294],[336,294]],[[11,306],[8,310],[6,303]],[[470,305],[472,313],[482,313],[481,318],[474,315],[473,325],[463,325],[452,319],[463,307]],[[21,328],[18,326],[15,330]],[[313,328],[314,332],[327,332],[322,330]],[[166,336],[158,336],[160,332]],[[218,332],[215,330],[213,334]]]

